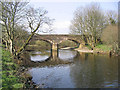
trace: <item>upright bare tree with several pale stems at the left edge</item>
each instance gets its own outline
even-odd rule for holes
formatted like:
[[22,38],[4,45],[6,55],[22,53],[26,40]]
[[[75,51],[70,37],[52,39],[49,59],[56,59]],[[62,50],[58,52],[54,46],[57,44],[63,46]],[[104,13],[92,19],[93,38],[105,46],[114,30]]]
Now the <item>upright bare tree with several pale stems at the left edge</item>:
[[14,32],[17,21],[20,20],[21,12],[24,11],[24,7],[27,5],[25,2],[5,2],[1,1],[0,5],[2,7],[0,17],[0,24],[3,26],[3,36],[2,39],[6,42],[6,47],[9,49],[11,54],[14,54]]

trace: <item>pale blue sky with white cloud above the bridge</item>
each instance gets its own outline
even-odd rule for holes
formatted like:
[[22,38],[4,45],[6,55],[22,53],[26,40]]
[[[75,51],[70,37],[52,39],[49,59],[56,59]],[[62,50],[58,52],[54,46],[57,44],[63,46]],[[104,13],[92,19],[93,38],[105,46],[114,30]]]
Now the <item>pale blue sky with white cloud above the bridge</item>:
[[[83,1],[83,0],[82,0]],[[91,2],[100,4],[101,9],[106,12],[108,10],[118,11],[118,0],[31,0],[29,5],[34,8],[42,7],[48,11],[48,16],[55,19],[53,22],[52,34],[69,34],[71,20],[74,12],[78,7],[84,7]]]

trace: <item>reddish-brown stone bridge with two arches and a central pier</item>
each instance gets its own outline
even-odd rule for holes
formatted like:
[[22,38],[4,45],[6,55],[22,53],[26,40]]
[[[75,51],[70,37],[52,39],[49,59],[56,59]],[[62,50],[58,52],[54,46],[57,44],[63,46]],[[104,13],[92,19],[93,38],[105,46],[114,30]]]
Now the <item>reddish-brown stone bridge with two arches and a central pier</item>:
[[78,48],[84,45],[84,41],[81,39],[80,35],[63,35],[63,34],[36,34],[32,40],[43,40],[51,45],[51,50],[58,50],[58,45],[66,40],[73,41],[77,43]]

